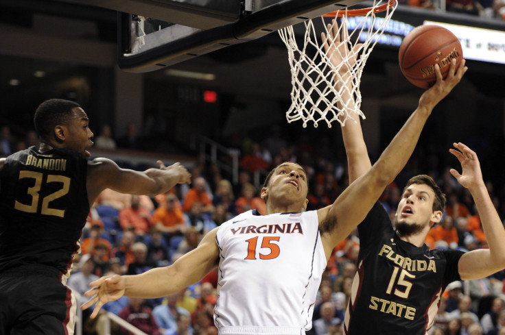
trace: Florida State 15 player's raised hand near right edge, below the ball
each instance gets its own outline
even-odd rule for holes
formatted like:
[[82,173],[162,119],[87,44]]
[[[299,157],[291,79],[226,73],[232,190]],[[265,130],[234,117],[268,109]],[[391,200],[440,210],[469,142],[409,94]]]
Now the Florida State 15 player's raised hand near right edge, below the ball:
[[451,169],[451,175],[458,180],[458,183],[469,189],[484,184],[477,154],[462,143],[454,143],[453,145],[456,149],[449,149],[449,152],[458,158],[462,172],[459,173],[456,169]]

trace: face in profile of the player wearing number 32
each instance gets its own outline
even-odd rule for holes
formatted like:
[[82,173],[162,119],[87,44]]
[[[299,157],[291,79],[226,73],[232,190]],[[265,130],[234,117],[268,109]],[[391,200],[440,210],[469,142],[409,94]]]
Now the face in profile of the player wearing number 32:
[[73,108],[72,112],[73,116],[67,125],[66,147],[90,156],[86,149],[93,145],[93,132],[88,127],[88,116],[82,108]]

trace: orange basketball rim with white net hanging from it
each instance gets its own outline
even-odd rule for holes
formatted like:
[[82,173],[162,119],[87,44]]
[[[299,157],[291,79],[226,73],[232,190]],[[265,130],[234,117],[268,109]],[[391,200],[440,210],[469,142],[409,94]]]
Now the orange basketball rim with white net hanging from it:
[[[293,26],[279,29],[279,35],[287,47],[291,67],[292,105],[286,112],[288,123],[302,120],[303,127],[309,121],[318,127],[319,121],[325,121],[331,128],[333,121],[345,125],[347,119],[365,118],[361,112],[360,82],[366,60],[373,47],[386,29],[393,12],[397,8],[396,0],[375,0],[369,8],[339,10],[320,16],[322,27],[316,29],[318,18],[304,22],[305,34],[303,45],[298,47]],[[385,12],[384,18],[375,16]],[[338,33],[328,30],[325,17],[335,21],[341,19]],[[343,27],[347,28],[344,32]],[[325,51],[320,32],[326,36],[340,36],[340,43],[347,43],[346,49],[357,52],[342,53],[340,47]],[[361,45],[360,45],[361,44]],[[338,52],[339,64],[332,64],[333,53]],[[346,67],[343,67],[346,66]],[[346,75],[342,75],[346,73]]]

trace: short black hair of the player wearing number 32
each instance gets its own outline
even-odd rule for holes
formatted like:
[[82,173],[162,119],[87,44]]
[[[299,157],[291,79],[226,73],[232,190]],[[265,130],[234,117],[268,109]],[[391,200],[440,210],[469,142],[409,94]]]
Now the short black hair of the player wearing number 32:
[[76,107],[80,105],[64,99],[49,99],[40,103],[34,115],[35,130],[40,139],[47,140],[56,125],[66,125],[72,109]]

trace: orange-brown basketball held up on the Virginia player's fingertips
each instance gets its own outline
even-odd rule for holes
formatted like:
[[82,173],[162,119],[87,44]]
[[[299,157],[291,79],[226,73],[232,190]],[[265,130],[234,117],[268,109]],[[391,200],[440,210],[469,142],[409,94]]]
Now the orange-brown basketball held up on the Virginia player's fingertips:
[[457,69],[463,58],[460,41],[439,25],[420,25],[412,29],[401,42],[398,53],[403,75],[415,86],[425,89],[436,82],[435,64],[440,66],[445,79],[453,58],[456,58]]

